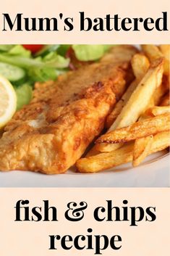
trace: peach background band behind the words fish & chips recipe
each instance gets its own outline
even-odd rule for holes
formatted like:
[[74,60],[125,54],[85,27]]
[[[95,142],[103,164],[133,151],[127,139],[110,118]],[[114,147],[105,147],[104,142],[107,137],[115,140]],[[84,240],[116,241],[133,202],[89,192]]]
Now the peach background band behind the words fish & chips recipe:
[[[50,256],[50,255],[94,255],[91,250],[64,251],[48,250],[49,234],[87,234],[93,228],[93,234],[122,236],[122,249],[106,249],[104,256],[166,256],[169,255],[170,207],[169,189],[0,189],[0,255],[2,256]],[[59,222],[14,222],[14,206],[19,199],[29,199],[31,206],[41,206],[43,199],[58,209]],[[154,222],[142,221],[137,227],[129,227],[128,222],[101,222],[93,220],[93,210],[105,206],[106,199],[121,207],[127,199],[129,206],[155,206],[157,219]],[[88,202],[85,218],[77,223],[64,219],[68,202]]]

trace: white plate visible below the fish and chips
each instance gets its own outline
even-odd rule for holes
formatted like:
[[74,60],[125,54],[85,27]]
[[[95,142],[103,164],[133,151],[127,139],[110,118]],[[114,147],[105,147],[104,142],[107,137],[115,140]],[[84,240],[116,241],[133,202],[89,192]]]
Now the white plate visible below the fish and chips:
[[[28,171],[0,173],[1,187],[167,187],[169,186],[169,154],[159,152],[147,157],[137,168],[132,164],[95,174],[69,170],[65,174],[46,176]],[[74,170],[74,168],[73,168]]]

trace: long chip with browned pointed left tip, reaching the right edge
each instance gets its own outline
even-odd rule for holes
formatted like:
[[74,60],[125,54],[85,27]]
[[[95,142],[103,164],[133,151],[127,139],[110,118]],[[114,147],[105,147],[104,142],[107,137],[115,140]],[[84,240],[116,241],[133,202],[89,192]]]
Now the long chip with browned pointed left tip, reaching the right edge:
[[121,143],[169,131],[170,115],[169,113],[150,117],[138,121],[124,128],[119,128],[101,136],[95,143]]

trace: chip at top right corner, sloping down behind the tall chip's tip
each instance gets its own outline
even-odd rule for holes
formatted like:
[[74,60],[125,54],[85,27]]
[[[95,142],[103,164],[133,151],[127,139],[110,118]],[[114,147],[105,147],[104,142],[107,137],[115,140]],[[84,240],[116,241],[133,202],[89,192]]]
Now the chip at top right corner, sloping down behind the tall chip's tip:
[[169,75],[169,59],[166,59],[163,53],[158,49],[158,46],[155,46],[153,44],[144,44],[142,45],[142,49],[146,56],[149,58],[150,62],[153,62],[156,59],[160,59],[163,57],[163,74]]

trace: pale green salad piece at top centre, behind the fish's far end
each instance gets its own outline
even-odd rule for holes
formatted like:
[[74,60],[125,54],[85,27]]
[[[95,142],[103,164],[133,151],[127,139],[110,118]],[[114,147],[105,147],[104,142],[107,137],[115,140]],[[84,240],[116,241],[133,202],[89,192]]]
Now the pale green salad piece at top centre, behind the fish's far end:
[[75,56],[81,61],[97,60],[111,48],[108,44],[73,44],[72,49],[75,51]]

